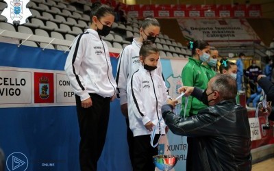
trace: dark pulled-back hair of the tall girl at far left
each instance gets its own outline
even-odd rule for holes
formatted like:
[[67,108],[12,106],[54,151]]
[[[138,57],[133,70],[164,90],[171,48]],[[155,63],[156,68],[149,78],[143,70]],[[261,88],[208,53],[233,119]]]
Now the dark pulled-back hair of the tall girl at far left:
[[92,3],[90,12],[90,23],[92,23],[93,16],[97,16],[99,20],[102,16],[105,16],[105,14],[112,14],[113,16],[115,16],[114,10],[109,5],[101,4],[99,2]]

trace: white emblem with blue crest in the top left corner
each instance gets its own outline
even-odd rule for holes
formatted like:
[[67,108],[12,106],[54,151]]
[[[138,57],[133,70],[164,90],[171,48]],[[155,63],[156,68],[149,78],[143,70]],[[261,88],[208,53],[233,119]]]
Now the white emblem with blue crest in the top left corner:
[[29,0],[4,0],[8,4],[8,8],[5,8],[1,13],[2,16],[7,18],[7,22],[10,24],[23,25],[26,23],[26,19],[32,16],[32,12],[26,7]]

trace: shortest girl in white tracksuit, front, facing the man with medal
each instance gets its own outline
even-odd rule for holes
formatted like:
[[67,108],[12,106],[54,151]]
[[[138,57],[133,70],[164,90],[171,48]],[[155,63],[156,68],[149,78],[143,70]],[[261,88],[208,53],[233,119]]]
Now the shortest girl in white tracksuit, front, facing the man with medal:
[[[155,144],[165,134],[166,124],[161,107],[166,104],[166,88],[162,77],[156,73],[159,50],[150,41],[140,48],[142,65],[127,83],[129,127],[134,134],[133,170],[155,170],[153,155],[158,155],[157,146],[150,144],[150,135],[155,129]],[[156,125],[160,120],[160,124]]]

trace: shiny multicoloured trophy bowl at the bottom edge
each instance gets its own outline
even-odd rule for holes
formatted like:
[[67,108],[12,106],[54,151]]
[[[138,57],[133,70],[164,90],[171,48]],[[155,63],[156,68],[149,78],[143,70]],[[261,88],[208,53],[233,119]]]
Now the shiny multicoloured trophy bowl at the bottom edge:
[[155,166],[163,171],[171,170],[177,163],[178,157],[175,155],[155,155],[153,162]]

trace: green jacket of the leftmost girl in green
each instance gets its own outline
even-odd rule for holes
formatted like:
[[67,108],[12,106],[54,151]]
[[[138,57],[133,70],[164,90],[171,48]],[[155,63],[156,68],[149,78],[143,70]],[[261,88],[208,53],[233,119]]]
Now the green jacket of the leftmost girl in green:
[[[188,63],[182,70],[182,82],[184,86],[195,86],[197,88],[206,89],[208,86],[208,77],[201,67],[201,61],[188,58]],[[181,116],[184,116],[184,106],[186,97],[182,98]],[[198,114],[198,111],[205,109],[204,105],[197,98],[188,96],[188,106],[186,107],[186,116],[189,114]]]

